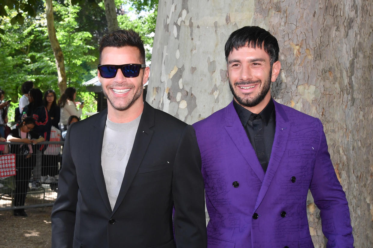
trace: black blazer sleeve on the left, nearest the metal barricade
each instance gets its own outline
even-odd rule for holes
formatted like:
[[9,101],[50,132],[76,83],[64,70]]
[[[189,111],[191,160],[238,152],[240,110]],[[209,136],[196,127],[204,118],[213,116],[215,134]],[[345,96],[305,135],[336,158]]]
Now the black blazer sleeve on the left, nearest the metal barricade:
[[78,183],[75,165],[70,154],[70,133],[73,125],[66,134],[63,147],[62,168],[59,173],[58,195],[53,205],[52,247],[72,247],[75,226],[76,204],[78,202]]

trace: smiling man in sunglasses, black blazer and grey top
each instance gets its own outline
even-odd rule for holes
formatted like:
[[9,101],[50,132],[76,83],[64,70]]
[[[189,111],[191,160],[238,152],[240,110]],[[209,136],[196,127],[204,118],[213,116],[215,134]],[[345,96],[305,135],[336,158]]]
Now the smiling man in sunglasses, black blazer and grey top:
[[138,33],[103,37],[97,76],[108,107],[68,130],[52,247],[206,247],[195,132],[143,102],[149,70]]

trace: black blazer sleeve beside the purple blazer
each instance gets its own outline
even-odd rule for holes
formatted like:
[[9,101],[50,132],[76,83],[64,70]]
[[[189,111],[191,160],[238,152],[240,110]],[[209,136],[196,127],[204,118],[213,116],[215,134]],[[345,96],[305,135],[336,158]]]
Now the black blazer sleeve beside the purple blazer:
[[190,125],[184,129],[176,152],[172,193],[176,246],[207,247],[201,154]]

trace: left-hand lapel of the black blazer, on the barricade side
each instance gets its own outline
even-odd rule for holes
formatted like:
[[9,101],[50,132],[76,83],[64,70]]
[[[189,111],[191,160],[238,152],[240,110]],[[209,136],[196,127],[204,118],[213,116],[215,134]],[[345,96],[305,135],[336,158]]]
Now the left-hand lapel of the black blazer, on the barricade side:
[[93,123],[92,135],[90,136],[90,165],[93,171],[93,175],[100,191],[101,198],[109,212],[112,212],[112,207],[110,206],[109,197],[107,196],[106,184],[104,179],[104,174],[102,172],[101,165],[101,152],[102,152],[102,142],[104,139],[104,131],[106,125],[107,109],[103,110],[97,118],[97,122]]

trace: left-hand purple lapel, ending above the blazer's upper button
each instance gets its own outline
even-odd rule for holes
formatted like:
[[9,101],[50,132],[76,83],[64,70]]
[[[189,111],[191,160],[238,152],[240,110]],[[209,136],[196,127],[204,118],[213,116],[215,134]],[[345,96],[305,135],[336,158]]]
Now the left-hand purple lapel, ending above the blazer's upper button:
[[250,144],[244,127],[233,106],[233,101],[225,108],[225,130],[231,137],[239,152],[245,158],[246,162],[253,169],[259,180],[263,182],[264,171],[255,154],[253,146]]

